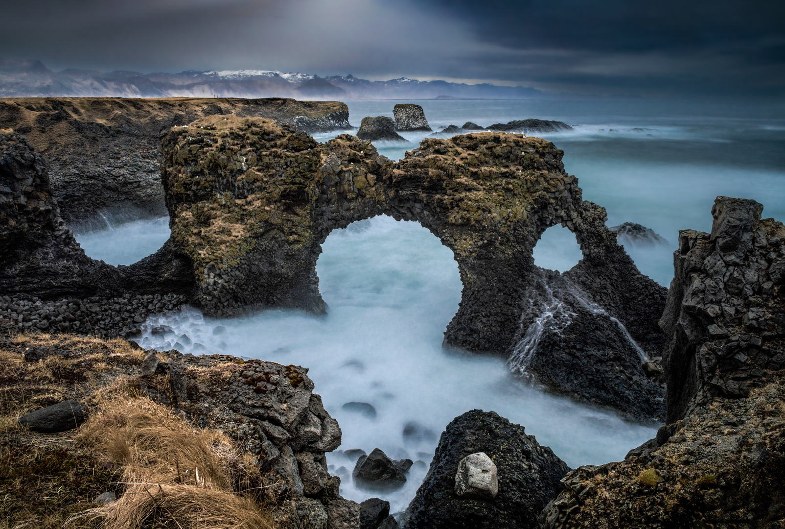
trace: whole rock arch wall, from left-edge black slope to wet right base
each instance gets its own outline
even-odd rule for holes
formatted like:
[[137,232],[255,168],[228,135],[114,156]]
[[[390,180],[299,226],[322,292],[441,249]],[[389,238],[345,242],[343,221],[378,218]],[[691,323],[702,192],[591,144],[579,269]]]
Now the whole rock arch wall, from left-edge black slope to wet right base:
[[[115,267],[86,257],[63,226],[46,161],[23,138],[0,139],[0,184],[9,189],[0,204],[0,292],[44,299],[172,292],[215,316],[254,307],[319,314],[326,307],[316,259],[327,235],[386,214],[419,222],[455,256],[462,300],[445,345],[513,362],[556,299],[571,319],[540,333],[546,340],[531,374],[634,417],[662,416],[662,388],[641,359],[663,350],[657,321],[666,289],[616,244],[604,209],[582,200],[550,141],[426,138],[393,163],[348,134],[319,144],[271,119],[199,119],[162,136],[172,236],[154,255]],[[557,223],[575,233],[583,254],[564,274],[531,256]]]

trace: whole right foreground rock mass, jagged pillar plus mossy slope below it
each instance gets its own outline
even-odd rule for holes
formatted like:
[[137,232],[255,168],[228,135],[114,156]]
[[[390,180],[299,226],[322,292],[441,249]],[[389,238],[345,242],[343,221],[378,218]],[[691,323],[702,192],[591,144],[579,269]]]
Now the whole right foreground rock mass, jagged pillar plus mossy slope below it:
[[660,321],[667,422],[625,461],[583,466],[543,510],[557,527],[782,527],[785,226],[717,197],[682,230]]

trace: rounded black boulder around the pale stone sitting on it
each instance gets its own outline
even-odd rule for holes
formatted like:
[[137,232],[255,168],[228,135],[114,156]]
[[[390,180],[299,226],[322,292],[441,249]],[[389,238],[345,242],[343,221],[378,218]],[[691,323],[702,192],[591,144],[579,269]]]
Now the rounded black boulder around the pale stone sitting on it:
[[[498,494],[492,500],[460,498],[455,493],[458,462],[476,452],[487,454],[498,468]],[[535,527],[542,508],[561,490],[560,479],[568,470],[523,427],[494,412],[469,411],[456,417],[441,435],[403,527]]]

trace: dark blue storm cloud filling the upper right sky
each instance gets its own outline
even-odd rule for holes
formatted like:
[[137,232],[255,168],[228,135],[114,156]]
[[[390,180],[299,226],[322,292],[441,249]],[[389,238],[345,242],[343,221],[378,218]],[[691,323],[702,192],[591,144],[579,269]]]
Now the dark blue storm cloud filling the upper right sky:
[[430,0],[425,6],[466,20],[478,42],[520,53],[517,62],[487,57],[500,79],[537,64],[528,79],[564,90],[783,94],[785,2]]

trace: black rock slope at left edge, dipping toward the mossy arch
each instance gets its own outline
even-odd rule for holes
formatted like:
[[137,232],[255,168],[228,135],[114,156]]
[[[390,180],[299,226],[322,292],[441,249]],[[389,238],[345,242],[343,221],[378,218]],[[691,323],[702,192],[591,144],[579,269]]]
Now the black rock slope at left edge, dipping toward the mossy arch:
[[0,133],[0,152],[0,328],[113,337],[184,303],[193,281],[177,255],[90,259],[60,219],[43,156],[19,134]]

